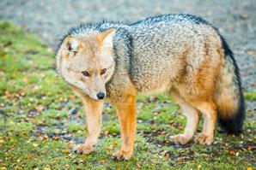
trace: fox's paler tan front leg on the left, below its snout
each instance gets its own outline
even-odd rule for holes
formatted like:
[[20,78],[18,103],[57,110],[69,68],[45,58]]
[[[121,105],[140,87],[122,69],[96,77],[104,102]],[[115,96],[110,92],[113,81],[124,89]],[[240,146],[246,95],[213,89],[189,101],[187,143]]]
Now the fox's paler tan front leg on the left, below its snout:
[[75,150],[77,153],[87,155],[94,150],[94,145],[97,144],[97,140],[100,136],[103,102],[82,98],[82,103],[85,107],[88,136],[84,144],[78,145]]

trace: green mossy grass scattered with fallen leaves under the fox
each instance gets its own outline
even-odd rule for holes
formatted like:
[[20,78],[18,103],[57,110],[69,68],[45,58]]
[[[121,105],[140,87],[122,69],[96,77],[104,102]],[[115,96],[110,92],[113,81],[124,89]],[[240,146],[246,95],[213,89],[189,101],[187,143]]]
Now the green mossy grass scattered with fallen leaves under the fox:
[[[0,21],[0,169],[247,169],[255,167],[256,124],[247,113],[242,135],[216,131],[214,144],[170,144],[186,124],[167,96],[138,97],[137,142],[131,161],[111,158],[120,145],[115,110],[106,104],[99,145],[91,155],[71,152],[82,143],[81,100],[55,73],[54,52],[30,32]],[[255,92],[245,93],[255,100]]]

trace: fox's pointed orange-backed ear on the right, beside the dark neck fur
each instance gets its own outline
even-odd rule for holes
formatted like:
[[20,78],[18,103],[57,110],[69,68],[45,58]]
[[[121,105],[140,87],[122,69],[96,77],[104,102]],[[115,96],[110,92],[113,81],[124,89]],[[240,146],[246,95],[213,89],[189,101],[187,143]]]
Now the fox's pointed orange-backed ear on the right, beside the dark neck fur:
[[116,30],[111,28],[105,32],[101,32],[97,35],[97,39],[103,47],[113,47],[113,36]]

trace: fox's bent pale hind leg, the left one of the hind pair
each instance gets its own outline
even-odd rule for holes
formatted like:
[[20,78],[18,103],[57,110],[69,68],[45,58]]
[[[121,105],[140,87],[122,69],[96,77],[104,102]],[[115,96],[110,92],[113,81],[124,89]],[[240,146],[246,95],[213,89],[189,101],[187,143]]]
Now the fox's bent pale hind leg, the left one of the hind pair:
[[191,141],[194,132],[198,126],[199,113],[196,108],[193,108],[191,104],[187,103],[183,97],[176,91],[170,91],[170,96],[174,101],[180,106],[183,114],[186,115],[186,127],[182,134],[174,135],[171,138],[174,140],[175,144],[187,144]]

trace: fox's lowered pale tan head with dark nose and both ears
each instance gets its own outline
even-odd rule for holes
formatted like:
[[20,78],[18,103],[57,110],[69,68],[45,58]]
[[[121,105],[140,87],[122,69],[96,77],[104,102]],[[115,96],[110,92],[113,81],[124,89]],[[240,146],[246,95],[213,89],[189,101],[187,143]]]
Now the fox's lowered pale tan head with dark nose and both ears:
[[94,100],[107,96],[105,85],[114,71],[114,29],[64,38],[57,55],[58,73]]

